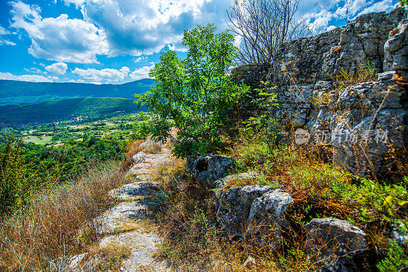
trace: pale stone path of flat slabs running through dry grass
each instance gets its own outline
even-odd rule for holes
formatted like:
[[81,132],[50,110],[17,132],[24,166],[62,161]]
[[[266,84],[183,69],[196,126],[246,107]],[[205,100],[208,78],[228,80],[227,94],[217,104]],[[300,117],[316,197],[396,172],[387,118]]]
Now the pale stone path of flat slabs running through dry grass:
[[[141,146],[147,147],[152,144],[148,140]],[[161,238],[154,232],[145,232],[143,229],[114,234],[120,231],[126,224],[136,223],[146,216],[154,214],[158,203],[152,200],[152,195],[158,192],[155,183],[152,182],[152,173],[157,171],[157,166],[162,162],[170,161],[170,150],[162,149],[160,154],[149,154],[143,151],[133,156],[134,166],[126,173],[136,182],[124,184],[109,192],[111,197],[122,200],[119,204],[107,210],[93,221],[97,233],[106,235],[101,239],[99,248],[106,247],[110,243],[130,248],[131,255],[121,264],[120,270],[125,272],[134,271],[171,271],[165,262],[159,262],[155,258],[155,251]],[[112,235],[114,234],[114,235]],[[83,264],[87,253],[73,256],[68,261],[67,271],[86,271],[91,263]],[[94,262],[94,258],[91,258]]]

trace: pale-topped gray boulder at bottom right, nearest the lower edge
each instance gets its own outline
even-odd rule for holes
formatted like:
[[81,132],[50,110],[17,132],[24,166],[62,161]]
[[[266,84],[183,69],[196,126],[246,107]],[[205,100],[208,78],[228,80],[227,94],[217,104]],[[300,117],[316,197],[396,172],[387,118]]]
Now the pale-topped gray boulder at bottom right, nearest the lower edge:
[[308,254],[322,271],[356,271],[353,257],[367,248],[365,233],[348,221],[331,217],[306,225]]

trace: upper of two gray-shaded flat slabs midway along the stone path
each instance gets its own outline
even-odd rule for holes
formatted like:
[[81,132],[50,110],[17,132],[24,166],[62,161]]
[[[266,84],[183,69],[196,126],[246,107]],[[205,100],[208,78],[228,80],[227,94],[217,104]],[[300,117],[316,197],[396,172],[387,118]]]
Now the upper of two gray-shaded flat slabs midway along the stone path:
[[123,200],[149,197],[156,192],[156,189],[156,185],[152,182],[137,181],[109,191],[109,196]]

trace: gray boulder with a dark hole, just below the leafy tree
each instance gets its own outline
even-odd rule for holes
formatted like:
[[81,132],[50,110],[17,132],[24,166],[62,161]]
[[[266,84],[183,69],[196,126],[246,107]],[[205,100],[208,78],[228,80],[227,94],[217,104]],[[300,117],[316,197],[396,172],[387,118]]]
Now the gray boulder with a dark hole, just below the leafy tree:
[[233,173],[234,166],[234,158],[217,154],[207,154],[197,158],[191,156],[187,160],[187,167],[193,174],[193,178],[210,189],[216,187],[217,180]]

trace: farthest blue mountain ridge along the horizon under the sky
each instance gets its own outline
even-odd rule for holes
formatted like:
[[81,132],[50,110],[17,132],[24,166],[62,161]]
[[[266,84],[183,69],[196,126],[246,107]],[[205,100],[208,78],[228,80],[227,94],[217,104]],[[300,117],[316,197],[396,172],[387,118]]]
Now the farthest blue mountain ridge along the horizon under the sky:
[[151,86],[154,86],[154,79],[150,78],[120,85],[37,83],[2,79],[0,80],[0,106],[82,97],[118,97],[134,100],[135,97],[133,95],[135,93],[143,94]]

